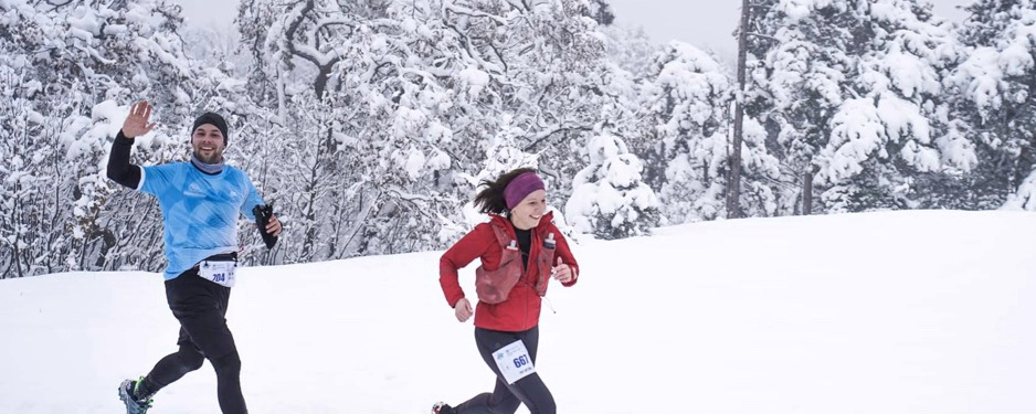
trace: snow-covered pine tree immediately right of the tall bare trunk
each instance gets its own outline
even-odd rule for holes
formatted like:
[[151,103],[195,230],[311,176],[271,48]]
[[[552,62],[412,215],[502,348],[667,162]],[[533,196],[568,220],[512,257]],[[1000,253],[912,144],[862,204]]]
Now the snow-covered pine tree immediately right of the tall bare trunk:
[[[753,8],[751,76],[747,118],[758,120],[779,173],[770,185],[776,214],[810,214],[814,158],[831,135],[829,121],[843,102],[855,66],[846,13],[791,19],[776,0]],[[786,7],[786,6],[785,6]],[[850,25],[848,25],[850,26]]]

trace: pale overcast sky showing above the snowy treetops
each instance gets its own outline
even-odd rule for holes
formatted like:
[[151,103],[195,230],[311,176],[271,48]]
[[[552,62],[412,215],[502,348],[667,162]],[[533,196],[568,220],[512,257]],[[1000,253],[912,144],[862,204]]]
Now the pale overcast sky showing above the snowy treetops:
[[[922,0],[923,1],[923,0]],[[959,6],[973,0],[929,0],[935,15],[960,21]],[[236,0],[179,0],[188,20],[199,24],[231,24],[237,13]],[[657,43],[679,40],[718,53],[732,63],[737,54],[733,30],[738,25],[741,0],[609,0],[615,23],[644,31]]]

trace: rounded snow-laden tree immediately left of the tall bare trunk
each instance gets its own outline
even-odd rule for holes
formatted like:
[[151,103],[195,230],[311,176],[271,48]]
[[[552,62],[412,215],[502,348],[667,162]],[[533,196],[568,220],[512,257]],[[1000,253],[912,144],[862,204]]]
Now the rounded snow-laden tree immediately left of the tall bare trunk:
[[641,84],[639,134],[627,139],[644,160],[644,183],[657,191],[668,223],[726,216],[730,78],[712,56],[683,42],[670,42],[653,62]]

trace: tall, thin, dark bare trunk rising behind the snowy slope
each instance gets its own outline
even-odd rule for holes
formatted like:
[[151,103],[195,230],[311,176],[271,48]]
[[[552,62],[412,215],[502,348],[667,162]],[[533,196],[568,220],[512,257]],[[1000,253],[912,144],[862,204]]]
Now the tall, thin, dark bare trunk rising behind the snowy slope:
[[734,96],[736,107],[733,114],[733,151],[728,164],[730,174],[727,176],[727,217],[741,216],[741,135],[744,123],[744,66],[748,60],[748,17],[750,12],[749,0],[741,0],[741,30],[738,31],[738,93]]

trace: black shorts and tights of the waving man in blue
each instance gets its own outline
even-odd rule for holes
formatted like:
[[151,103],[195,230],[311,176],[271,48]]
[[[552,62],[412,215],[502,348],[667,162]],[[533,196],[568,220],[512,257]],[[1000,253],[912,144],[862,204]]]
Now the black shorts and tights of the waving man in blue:
[[226,327],[230,288],[205,280],[188,270],[166,280],[166,299],[180,321],[180,349],[158,361],[145,378],[144,386],[155,393],[201,368],[205,359],[216,376],[216,394],[223,414],[246,414],[241,394],[241,359],[234,337]]

